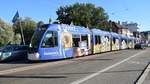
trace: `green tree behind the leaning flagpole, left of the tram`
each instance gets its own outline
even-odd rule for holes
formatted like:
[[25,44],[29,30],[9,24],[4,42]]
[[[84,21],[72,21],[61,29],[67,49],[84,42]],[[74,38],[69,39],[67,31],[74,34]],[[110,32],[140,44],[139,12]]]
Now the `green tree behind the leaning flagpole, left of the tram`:
[[[25,43],[28,45],[36,28],[36,22],[29,17],[25,17],[24,19],[20,18],[15,24],[13,24],[15,36],[17,37],[19,37],[18,34],[21,34],[19,22],[21,23],[23,29]],[[19,41],[17,38],[16,40]]]

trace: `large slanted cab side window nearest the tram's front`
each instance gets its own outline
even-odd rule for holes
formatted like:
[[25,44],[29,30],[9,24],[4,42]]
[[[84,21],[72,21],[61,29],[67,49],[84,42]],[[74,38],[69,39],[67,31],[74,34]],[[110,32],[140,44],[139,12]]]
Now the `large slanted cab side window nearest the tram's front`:
[[45,34],[45,37],[42,42],[42,47],[49,48],[49,47],[57,47],[58,46],[58,36],[57,32],[55,31],[48,31]]

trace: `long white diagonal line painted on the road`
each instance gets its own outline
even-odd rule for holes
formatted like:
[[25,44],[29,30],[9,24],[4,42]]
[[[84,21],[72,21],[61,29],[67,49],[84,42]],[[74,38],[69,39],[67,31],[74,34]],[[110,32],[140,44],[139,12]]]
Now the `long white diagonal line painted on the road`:
[[115,63],[115,64],[113,64],[113,65],[111,65],[111,66],[109,66],[109,67],[107,67],[107,68],[105,68],[105,69],[102,69],[102,70],[100,70],[100,71],[98,71],[98,72],[96,72],[96,73],[93,73],[93,74],[88,75],[88,76],[86,76],[86,77],[84,77],[84,78],[81,78],[81,79],[79,79],[79,80],[76,80],[76,81],[74,81],[74,82],[72,82],[72,83],[70,83],[70,84],[81,84],[81,83],[83,83],[83,82],[85,82],[85,81],[87,81],[87,80],[89,80],[89,79],[91,79],[91,78],[93,78],[93,77],[95,77],[95,76],[97,76],[97,75],[100,75],[101,73],[103,73],[103,72],[105,72],[105,71],[108,71],[108,70],[110,70],[110,69],[112,69],[112,68],[114,68],[114,67],[120,65],[120,64],[123,63],[123,62],[126,62],[126,61],[130,60],[130,59],[133,58],[133,57],[139,56],[140,54],[142,54],[142,53],[144,53],[144,52],[145,52],[145,51],[141,51],[141,52],[139,52],[139,53],[137,53],[137,54],[134,54],[134,55],[132,55],[131,57],[128,57],[128,58],[126,58],[126,59],[124,59],[124,60],[122,60],[122,61],[120,61],[120,62],[117,62],[117,63]]

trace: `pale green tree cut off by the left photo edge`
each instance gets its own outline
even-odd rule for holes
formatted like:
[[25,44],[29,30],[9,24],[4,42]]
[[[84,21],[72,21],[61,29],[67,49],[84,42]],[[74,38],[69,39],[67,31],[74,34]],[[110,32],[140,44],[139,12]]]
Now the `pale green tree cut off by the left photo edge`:
[[14,32],[12,26],[0,19],[0,46],[13,41]]

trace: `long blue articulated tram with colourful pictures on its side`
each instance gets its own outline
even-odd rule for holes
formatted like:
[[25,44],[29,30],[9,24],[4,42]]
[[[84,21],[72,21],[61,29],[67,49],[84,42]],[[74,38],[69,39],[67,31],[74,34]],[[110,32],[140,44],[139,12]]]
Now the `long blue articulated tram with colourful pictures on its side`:
[[134,48],[134,37],[100,29],[65,24],[36,28],[28,51],[29,60],[57,60]]

